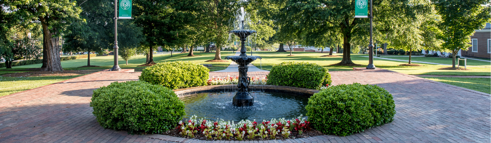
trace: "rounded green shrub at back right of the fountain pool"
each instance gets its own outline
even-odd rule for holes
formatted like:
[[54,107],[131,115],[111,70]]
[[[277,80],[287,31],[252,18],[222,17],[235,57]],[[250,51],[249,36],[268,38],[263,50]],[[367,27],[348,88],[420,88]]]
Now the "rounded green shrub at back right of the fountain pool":
[[267,84],[319,89],[331,82],[327,69],[319,64],[286,61],[273,65]]

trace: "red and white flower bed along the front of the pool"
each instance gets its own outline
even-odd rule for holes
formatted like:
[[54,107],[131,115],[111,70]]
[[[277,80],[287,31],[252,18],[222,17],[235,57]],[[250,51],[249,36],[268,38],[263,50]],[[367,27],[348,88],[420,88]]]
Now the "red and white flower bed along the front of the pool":
[[311,129],[310,122],[301,118],[301,115],[298,119],[272,119],[262,123],[250,120],[239,123],[224,120],[196,120],[196,116],[192,116],[187,123],[181,121],[176,129],[163,134],[208,141],[285,140],[323,135]]

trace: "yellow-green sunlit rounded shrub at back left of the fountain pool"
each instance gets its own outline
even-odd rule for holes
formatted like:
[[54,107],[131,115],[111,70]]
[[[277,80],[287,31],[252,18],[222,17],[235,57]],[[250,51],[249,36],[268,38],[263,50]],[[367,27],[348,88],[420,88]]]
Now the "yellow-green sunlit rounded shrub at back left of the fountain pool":
[[170,89],[205,86],[210,70],[191,61],[160,62],[143,69],[139,79]]

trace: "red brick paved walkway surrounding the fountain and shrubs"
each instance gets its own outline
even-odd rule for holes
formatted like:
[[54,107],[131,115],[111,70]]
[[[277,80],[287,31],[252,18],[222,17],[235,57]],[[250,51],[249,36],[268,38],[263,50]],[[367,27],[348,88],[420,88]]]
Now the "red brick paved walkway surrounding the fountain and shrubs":
[[[333,84],[359,82],[387,89],[396,102],[394,122],[346,137],[275,142],[491,143],[490,94],[391,71],[329,73]],[[216,77],[227,74],[234,76],[218,73]],[[92,90],[110,82],[137,80],[138,75],[139,72],[97,72],[0,97],[0,143],[168,143],[159,135],[128,135],[104,129],[91,114]],[[159,138],[152,139],[156,137]]]

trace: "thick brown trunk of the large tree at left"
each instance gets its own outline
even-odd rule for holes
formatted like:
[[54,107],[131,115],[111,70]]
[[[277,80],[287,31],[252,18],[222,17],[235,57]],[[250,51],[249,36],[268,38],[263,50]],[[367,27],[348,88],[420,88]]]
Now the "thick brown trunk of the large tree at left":
[[[48,23],[47,21],[44,20],[44,18],[40,19],[41,25],[43,26],[43,64],[44,68],[41,69],[41,71],[63,71],[63,68],[61,67],[61,61],[60,57],[58,56],[59,54],[59,37],[53,37],[56,35],[56,32],[51,32],[50,29],[48,28]],[[53,31],[56,31],[55,29]],[[46,48],[44,48],[46,47]]]

